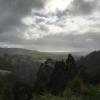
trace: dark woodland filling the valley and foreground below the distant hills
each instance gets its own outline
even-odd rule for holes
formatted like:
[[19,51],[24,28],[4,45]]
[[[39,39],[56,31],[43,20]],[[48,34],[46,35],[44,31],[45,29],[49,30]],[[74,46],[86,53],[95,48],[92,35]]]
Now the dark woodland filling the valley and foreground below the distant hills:
[[0,56],[0,100],[100,100],[100,51],[78,59],[33,56]]

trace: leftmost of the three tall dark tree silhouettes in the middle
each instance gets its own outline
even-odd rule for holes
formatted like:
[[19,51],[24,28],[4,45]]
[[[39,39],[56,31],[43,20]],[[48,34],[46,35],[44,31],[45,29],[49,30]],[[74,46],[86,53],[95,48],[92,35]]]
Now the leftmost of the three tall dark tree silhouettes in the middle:
[[54,70],[54,62],[52,59],[47,59],[40,65],[35,82],[35,92],[41,94],[47,90],[52,72]]

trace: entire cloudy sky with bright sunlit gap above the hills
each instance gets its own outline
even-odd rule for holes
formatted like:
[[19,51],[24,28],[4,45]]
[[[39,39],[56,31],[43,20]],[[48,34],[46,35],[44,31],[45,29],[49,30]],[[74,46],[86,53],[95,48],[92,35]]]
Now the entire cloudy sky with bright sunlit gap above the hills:
[[0,0],[0,47],[100,49],[100,0]]

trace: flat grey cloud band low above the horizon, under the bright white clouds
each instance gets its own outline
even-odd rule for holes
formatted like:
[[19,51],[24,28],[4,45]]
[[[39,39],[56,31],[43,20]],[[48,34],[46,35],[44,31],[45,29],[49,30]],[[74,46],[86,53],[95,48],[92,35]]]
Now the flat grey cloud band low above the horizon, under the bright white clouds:
[[[45,46],[45,48],[55,48],[56,50],[94,50],[100,49],[100,34],[86,33],[82,35],[52,35],[35,41],[35,45]],[[45,49],[44,48],[44,49]],[[59,48],[59,49],[58,49]]]

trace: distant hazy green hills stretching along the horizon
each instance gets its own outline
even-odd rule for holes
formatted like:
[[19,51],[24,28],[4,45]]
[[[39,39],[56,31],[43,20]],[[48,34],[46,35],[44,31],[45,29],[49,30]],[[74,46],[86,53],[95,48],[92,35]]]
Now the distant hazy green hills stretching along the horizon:
[[[71,52],[73,56],[78,59],[80,56],[86,54],[83,52]],[[28,50],[22,48],[0,48],[0,56],[8,55],[22,55],[30,56],[35,61],[44,61],[47,58],[52,59],[66,59],[69,52],[40,52],[36,50]]]

